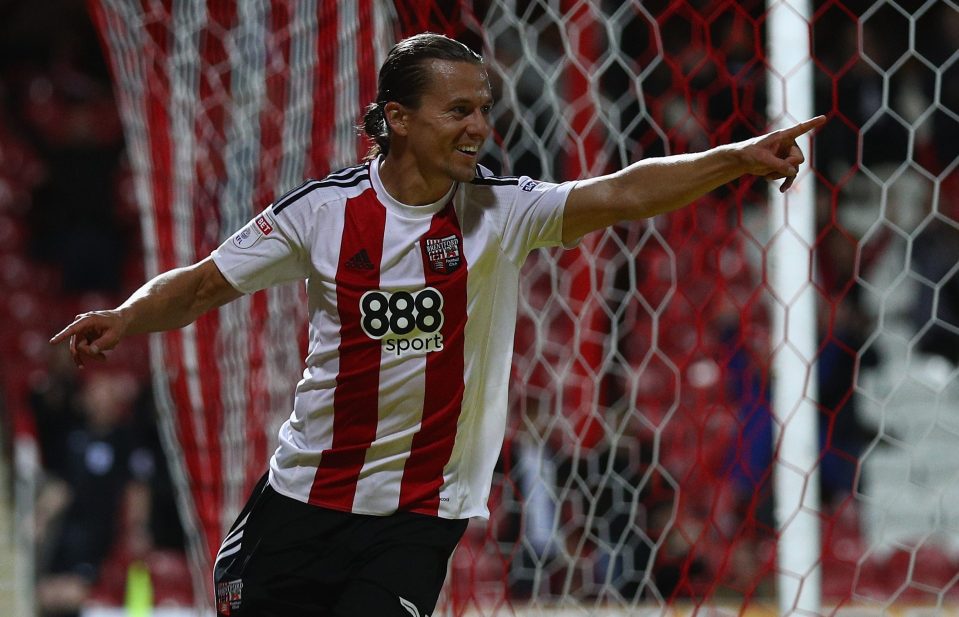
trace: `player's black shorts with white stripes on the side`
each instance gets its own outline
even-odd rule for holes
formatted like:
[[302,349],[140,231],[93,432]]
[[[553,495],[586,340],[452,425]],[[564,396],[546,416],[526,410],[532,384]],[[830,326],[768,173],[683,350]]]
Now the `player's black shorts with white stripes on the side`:
[[217,555],[217,615],[427,617],[467,522],[328,510],[264,476]]

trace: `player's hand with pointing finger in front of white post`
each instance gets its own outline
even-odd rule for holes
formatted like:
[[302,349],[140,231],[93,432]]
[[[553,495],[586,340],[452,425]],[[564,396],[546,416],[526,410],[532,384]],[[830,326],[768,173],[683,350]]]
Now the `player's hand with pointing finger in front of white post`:
[[789,128],[736,144],[746,165],[746,173],[763,176],[767,180],[785,178],[786,181],[779,187],[779,192],[785,193],[796,179],[799,166],[806,160],[796,139],[825,123],[826,116],[816,116]]

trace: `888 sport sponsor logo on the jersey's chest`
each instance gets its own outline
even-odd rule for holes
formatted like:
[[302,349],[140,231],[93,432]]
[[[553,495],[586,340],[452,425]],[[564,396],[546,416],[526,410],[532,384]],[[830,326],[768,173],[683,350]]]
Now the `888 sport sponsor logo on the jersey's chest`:
[[443,349],[443,294],[432,287],[419,291],[375,289],[360,298],[360,327],[372,339],[382,340],[387,352]]

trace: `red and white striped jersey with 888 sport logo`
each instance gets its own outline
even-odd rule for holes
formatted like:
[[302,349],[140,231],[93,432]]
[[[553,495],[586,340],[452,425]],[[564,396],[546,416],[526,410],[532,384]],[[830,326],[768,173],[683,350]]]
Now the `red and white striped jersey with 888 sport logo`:
[[487,517],[520,268],[561,244],[573,184],[480,167],[409,206],[378,164],[306,182],[213,252],[243,292],[307,281],[306,369],[270,484],[362,514]]

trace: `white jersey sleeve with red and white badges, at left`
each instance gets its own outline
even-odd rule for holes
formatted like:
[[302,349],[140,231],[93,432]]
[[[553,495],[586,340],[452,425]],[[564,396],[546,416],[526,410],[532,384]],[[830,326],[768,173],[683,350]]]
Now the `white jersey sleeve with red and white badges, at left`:
[[237,290],[252,293],[308,276],[302,225],[288,212],[267,208],[213,251],[214,263]]

